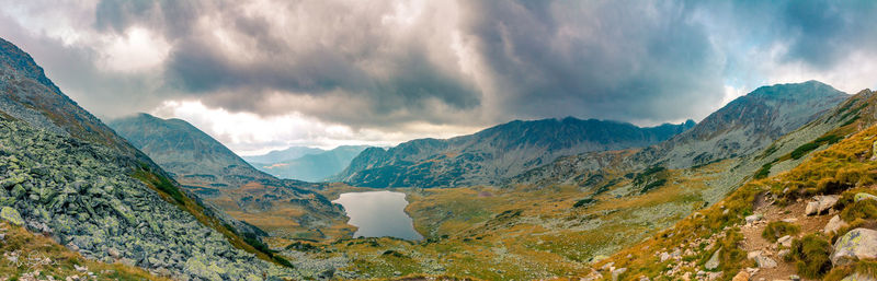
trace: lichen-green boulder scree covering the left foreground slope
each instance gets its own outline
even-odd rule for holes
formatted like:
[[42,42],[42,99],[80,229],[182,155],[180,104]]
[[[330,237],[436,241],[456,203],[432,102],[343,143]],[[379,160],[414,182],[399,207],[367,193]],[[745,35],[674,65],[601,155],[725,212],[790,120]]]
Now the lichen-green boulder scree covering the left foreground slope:
[[294,277],[235,248],[128,176],[119,157],[103,145],[0,120],[0,178],[15,179],[0,188],[0,216],[21,220],[88,258],[179,279]]

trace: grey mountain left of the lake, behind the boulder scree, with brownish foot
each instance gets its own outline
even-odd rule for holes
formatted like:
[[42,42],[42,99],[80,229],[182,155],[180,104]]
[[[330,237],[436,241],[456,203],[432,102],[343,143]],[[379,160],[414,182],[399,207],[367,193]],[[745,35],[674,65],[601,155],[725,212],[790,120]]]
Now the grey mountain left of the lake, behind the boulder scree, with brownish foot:
[[[258,171],[184,120],[138,114],[112,120],[110,126],[186,189],[270,234],[322,236],[326,229],[346,221],[339,204],[314,191],[320,185],[278,179]],[[278,227],[278,222],[287,227]],[[281,230],[284,233],[277,232]]]

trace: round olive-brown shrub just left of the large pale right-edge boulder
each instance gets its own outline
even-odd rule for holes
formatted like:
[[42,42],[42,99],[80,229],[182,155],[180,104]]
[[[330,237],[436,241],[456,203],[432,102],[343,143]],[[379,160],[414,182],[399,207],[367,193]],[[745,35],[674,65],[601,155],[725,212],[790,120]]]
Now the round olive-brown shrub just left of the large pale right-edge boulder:
[[805,278],[821,278],[831,270],[831,244],[817,234],[793,241],[789,255],[796,261],[798,274]]

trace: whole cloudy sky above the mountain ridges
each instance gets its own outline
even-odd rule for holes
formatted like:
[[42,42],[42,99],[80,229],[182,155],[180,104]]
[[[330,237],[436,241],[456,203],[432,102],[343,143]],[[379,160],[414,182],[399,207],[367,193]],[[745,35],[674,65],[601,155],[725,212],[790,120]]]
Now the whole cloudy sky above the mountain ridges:
[[877,1],[0,0],[94,115],[232,151],[392,145],[514,119],[701,120],[759,86],[877,87]]

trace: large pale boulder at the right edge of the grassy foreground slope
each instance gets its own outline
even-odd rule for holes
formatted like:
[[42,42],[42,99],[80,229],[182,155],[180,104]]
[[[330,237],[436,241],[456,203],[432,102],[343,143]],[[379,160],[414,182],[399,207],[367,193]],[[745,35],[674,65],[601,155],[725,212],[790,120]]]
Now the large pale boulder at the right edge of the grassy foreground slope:
[[831,255],[831,264],[834,266],[864,258],[877,258],[877,231],[855,229],[834,243],[834,254]]

